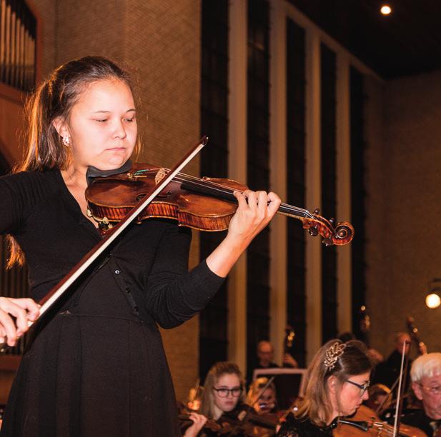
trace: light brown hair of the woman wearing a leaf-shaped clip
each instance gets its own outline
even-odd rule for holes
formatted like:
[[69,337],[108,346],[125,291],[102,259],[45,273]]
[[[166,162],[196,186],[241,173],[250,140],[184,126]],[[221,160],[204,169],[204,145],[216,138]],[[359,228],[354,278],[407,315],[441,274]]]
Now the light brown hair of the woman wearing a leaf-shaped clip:
[[[325,363],[329,356],[329,348],[335,344],[344,345],[342,353],[336,357],[334,366]],[[307,387],[304,399],[300,401],[295,416],[308,417],[317,426],[325,426],[332,416],[332,403],[329,398],[327,381],[330,376],[337,378],[337,390],[349,376],[361,375],[372,370],[372,363],[365,343],[350,340],[330,340],[325,343],[312,358],[308,367]]]

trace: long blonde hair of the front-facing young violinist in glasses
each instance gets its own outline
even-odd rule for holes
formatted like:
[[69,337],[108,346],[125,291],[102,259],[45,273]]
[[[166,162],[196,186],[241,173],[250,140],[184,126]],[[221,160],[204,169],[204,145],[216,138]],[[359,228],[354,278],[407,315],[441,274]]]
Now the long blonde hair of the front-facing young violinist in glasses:
[[203,414],[207,418],[214,418],[213,388],[222,375],[237,375],[240,385],[242,386],[242,393],[238,398],[238,402],[244,401],[244,378],[239,370],[239,366],[230,361],[219,361],[219,363],[215,363],[214,366],[210,368],[204,382],[204,392],[202,393],[201,408],[199,409],[199,413]]

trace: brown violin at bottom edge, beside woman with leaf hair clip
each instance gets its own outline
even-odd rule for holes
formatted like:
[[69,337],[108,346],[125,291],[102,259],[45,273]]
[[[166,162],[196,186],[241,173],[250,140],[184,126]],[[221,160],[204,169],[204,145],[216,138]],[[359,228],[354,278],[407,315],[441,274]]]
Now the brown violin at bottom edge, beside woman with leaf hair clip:
[[[350,418],[340,418],[337,428],[332,431],[335,437],[367,437],[367,436],[394,436],[394,427],[380,421],[375,411],[361,405],[355,415]],[[415,426],[400,424],[400,437],[425,437],[426,433]]]

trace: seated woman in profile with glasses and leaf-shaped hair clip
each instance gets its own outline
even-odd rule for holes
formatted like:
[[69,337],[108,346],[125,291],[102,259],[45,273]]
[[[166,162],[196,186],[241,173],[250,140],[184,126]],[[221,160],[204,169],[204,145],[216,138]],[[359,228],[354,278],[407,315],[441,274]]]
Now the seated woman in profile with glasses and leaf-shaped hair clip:
[[364,343],[328,341],[309,365],[304,399],[277,436],[332,436],[338,418],[352,415],[367,399],[371,370]]

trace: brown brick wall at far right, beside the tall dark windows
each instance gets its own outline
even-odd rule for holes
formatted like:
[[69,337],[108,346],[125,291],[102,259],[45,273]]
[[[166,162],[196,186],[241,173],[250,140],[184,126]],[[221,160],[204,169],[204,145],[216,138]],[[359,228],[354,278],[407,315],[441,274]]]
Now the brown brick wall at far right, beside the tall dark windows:
[[441,71],[388,81],[378,92],[367,166],[372,343],[390,353],[393,334],[414,316],[429,351],[441,351],[441,308],[425,306],[429,281],[441,277]]

